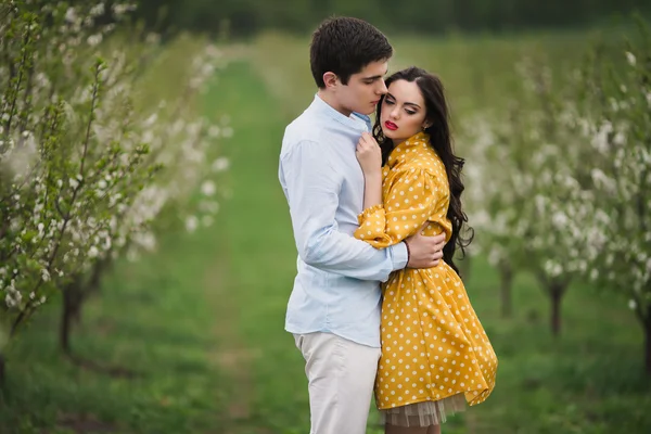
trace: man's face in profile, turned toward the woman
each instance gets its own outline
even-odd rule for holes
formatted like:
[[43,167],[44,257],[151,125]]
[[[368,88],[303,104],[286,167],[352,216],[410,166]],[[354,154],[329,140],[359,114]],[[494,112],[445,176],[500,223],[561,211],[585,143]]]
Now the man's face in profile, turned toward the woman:
[[337,79],[334,95],[339,107],[335,108],[347,116],[353,112],[365,115],[373,113],[380,98],[386,93],[384,76],[387,71],[388,60],[372,62],[353,74],[347,85]]

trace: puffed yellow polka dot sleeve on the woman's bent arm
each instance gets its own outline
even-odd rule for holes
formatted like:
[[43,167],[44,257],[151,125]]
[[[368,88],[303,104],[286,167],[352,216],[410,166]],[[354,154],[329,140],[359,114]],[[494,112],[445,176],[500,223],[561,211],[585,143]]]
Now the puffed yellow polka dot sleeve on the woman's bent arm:
[[355,238],[383,248],[414,234],[436,210],[444,194],[441,187],[441,180],[424,169],[398,175],[384,205],[371,206],[358,216]]

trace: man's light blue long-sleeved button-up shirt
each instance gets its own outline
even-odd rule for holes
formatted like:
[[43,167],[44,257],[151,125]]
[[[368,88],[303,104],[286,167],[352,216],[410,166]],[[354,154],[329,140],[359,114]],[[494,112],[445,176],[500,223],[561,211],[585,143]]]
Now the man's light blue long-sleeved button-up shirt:
[[353,237],[363,208],[355,149],[368,116],[346,117],[318,95],[291,123],[279,178],[298,250],[285,330],[330,332],[380,347],[380,282],[407,265],[404,243],[376,250]]

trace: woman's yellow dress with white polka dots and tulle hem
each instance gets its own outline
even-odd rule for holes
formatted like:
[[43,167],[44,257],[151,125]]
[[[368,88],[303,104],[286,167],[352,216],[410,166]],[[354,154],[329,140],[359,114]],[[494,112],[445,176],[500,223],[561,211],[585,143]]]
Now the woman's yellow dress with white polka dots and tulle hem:
[[[419,132],[396,146],[383,168],[383,203],[363,210],[355,237],[382,248],[429,222],[446,233],[445,166]],[[383,284],[382,357],[375,400],[392,424],[438,424],[464,401],[484,401],[495,387],[497,357],[459,276],[443,260],[395,271]],[[464,399],[463,399],[464,398]]]

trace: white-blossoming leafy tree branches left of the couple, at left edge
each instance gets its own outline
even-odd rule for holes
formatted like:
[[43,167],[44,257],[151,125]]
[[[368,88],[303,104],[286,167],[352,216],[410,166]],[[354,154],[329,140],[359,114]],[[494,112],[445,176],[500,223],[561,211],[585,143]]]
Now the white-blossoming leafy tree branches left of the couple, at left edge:
[[[217,210],[206,158],[231,131],[192,108],[220,52],[193,47],[179,91],[148,99],[142,77],[170,48],[151,36],[112,47],[107,37],[132,9],[114,3],[113,22],[101,25],[103,2],[0,2],[3,343],[61,291],[69,350],[71,319],[107,263],[154,247],[162,212],[186,219],[201,186],[203,221]],[[218,158],[214,171],[227,165]]]

